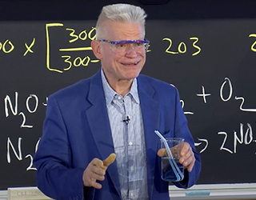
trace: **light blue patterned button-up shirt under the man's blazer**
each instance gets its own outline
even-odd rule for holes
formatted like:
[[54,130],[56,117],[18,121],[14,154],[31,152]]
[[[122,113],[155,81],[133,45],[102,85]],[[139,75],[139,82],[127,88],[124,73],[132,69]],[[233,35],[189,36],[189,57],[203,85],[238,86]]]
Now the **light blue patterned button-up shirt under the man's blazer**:
[[[146,200],[146,145],[137,79],[134,78],[130,91],[124,97],[110,87],[103,71],[102,84],[110,118],[114,153],[117,155],[122,200]],[[130,120],[124,122],[127,116]]]

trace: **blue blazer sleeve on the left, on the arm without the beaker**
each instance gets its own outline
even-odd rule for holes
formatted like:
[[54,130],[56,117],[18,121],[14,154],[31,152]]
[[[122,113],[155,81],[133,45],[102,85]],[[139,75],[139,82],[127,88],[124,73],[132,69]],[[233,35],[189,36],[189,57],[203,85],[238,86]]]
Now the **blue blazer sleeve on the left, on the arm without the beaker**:
[[34,156],[39,190],[54,199],[83,199],[83,169],[72,169],[71,159],[62,111],[50,96],[42,138]]

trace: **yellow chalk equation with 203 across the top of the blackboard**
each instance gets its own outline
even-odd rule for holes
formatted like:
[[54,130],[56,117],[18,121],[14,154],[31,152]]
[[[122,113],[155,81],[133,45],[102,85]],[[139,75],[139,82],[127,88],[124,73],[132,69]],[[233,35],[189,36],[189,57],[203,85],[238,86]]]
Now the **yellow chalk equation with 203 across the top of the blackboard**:
[[[64,23],[46,23],[45,24],[45,37],[46,37],[46,68],[47,70],[63,73],[65,71],[70,70],[72,67],[79,67],[79,66],[89,66],[90,63],[98,63],[99,60],[95,58],[91,58],[90,55],[84,56],[72,56],[70,52],[79,52],[85,51],[90,52],[92,51],[90,45],[89,46],[79,46],[78,47],[63,47],[60,46],[58,51],[63,53],[61,55],[62,62],[64,62],[65,66],[62,69],[58,69],[56,66],[52,66],[50,62],[51,56],[51,42],[54,38],[50,37],[50,33],[54,32],[55,29],[61,29],[62,32],[69,35],[68,42],[84,42],[84,41],[92,41],[96,38],[96,28],[91,27],[89,30],[82,30],[77,31],[72,27],[66,27]],[[256,38],[256,34],[249,34],[249,38]],[[194,52],[191,54],[192,56],[196,56],[202,52],[202,47],[200,46],[199,38],[194,36],[188,38],[190,43],[187,42],[178,42],[178,46],[173,45],[173,38],[162,38],[162,41],[166,42],[166,46],[163,49],[167,54],[186,54],[187,53],[187,46],[191,46],[194,49]],[[31,38],[30,42],[24,42],[24,52],[23,56],[27,54],[33,54],[34,50],[33,47],[36,45],[36,38]],[[15,45],[12,40],[9,38],[0,40],[0,53],[10,54],[15,50]],[[251,44],[250,50],[256,52],[256,40]],[[147,52],[150,52],[149,49]],[[206,96],[205,96],[206,97]],[[240,98],[242,100],[242,98]]]

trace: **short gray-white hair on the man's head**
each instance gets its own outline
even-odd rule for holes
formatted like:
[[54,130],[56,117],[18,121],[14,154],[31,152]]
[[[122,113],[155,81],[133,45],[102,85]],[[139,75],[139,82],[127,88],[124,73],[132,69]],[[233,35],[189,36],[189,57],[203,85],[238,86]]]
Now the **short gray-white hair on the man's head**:
[[146,13],[139,6],[124,3],[104,6],[96,24],[96,39],[102,39],[103,37],[105,32],[104,22],[139,22],[142,25],[145,36],[145,18]]

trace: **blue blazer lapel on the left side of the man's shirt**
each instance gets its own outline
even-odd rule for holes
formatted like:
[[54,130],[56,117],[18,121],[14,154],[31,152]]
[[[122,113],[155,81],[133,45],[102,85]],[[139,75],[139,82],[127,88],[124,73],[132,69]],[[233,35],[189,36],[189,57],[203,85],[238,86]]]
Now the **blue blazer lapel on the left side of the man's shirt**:
[[[102,160],[106,159],[110,154],[114,153],[114,144],[110,130],[109,117],[106,110],[106,99],[102,88],[102,79],[100,70],[91,78],[90,93],[88,100],[92,106],[86,110],[90,130],[93,134],[98,152],[101,154]],[[118,167],[116,162],[108,166],[106,173],[110,178],[121,197],[120,184],[118,179]]]

